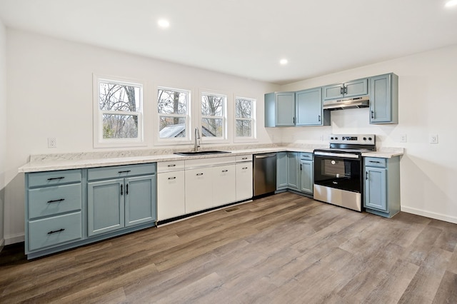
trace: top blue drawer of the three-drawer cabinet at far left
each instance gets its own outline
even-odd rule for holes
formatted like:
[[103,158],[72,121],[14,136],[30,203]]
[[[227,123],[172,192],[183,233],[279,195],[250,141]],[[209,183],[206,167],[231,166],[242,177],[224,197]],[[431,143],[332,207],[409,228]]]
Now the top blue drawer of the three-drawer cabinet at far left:
[[81,181],[81,170],[29,173],[29,187],[55,186]]

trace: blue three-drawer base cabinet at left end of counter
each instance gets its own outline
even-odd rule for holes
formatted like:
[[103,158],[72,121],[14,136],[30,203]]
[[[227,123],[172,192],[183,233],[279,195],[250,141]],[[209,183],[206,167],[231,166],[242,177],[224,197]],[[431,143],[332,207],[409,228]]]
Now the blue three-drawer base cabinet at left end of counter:
[[83,238],[82,176],[79,169],[26,173],[26,255],[39,255]]

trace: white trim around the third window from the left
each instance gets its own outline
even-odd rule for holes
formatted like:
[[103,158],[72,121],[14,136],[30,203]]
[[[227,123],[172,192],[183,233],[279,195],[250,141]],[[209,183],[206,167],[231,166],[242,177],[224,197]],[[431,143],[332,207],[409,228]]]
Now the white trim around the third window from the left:
[[[208,95],[214,95],[214,96],[221,96],[224,97],[224,106],[222,107],[222,116],[204,116],[201,113],[201,98],[204,94]],[[199,122],[197,124],[199,131],[200,131],[200,137],[201,137],[201,143],[229,143],[229,139],[227,138],[228,132],[229,132],[229,126],[228,126],[228,115],[229,112],[227,111],[228,108],[228,103],[229,103],[229,94],[226,93],[220,93],[212,90],[201,90],[199,91]],[[202,134],[202,119],[203,118],[216,118],[216,119],[221,119],[222,118],[222,136],[221,137],[211,137],[211,136],[203,136]]]

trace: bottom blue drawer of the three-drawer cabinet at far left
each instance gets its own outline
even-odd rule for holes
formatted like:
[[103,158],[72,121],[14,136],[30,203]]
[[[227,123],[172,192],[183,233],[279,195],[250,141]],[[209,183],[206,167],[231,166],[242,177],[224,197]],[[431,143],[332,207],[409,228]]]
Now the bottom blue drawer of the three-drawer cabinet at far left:
[[81,238],[81,211],[29,222],[30,251]]

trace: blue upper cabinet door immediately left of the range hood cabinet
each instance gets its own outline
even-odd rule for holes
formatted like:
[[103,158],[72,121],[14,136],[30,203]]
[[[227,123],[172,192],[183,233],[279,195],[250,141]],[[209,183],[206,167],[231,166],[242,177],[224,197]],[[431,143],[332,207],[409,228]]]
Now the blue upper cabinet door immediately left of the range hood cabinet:
[[296,93],[297,126],[321,126],[322,90],[312,88]]

